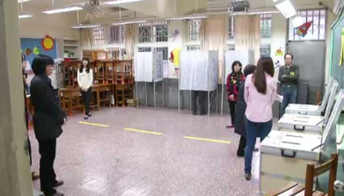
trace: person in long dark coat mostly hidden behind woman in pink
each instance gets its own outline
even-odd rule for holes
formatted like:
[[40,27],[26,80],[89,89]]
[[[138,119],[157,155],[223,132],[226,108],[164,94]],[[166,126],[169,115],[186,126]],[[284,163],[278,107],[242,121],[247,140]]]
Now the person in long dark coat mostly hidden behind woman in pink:
[[[255,65],[247,65],[244,69],[244,75],[247,77],[249,74],[253,74],[256,71]],[[245,80],[243,80],[239,87],[238,92],[238,101],[236,103],[235,110],[235,123],[234,123],[234,133],[240,135],[239,146],[236,151],[238,157],[243,157],[245,155],[246,147],[246,127],[245,127],[245,111],[246,111],[246,102],[244,99],[244,89],[245,89]]]

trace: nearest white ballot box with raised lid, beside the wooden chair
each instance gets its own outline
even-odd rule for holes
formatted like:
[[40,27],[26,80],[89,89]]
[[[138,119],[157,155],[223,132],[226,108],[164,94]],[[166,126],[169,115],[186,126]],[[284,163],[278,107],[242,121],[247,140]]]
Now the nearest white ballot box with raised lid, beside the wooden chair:
[[344,106],[344,90],[322,135],[272,130],[260,144],[259,191],[265,194],[288,182],[305,183],[308,163],[317,164]]

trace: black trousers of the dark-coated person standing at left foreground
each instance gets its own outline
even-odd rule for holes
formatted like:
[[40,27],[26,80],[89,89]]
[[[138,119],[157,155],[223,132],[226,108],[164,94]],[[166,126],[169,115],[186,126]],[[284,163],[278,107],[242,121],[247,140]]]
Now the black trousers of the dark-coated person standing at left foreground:
[[56,139],[38,140],[39,154],[39,180],[41,182],[41,191],[45,196],[51,196],[56,193],[53,188],[56,184],[56,174],[54,171],[54,161],[56,156]]

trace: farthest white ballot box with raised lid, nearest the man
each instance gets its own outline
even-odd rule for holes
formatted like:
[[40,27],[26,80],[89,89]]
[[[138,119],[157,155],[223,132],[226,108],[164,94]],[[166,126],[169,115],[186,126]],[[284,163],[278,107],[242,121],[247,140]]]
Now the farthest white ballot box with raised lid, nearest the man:
[[[327,103],[329,102],[330,94],[332,92],[337,91],[333,89],[334,81],[336,80],[331,77],[326,87],[325,94],[322,98],[321,105],[289,104],[286,108],[286,114],[321,116],[321,114],[325,111]],[[337,82],[337,88],[338,88],[338,82]]]

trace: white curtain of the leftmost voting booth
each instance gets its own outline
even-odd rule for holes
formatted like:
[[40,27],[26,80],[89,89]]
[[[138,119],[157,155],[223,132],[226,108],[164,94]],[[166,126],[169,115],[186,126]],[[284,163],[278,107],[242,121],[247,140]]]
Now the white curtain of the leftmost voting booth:
[[162,52],[136,52],[135,53],[135,81],[153,82],[163,79]]

